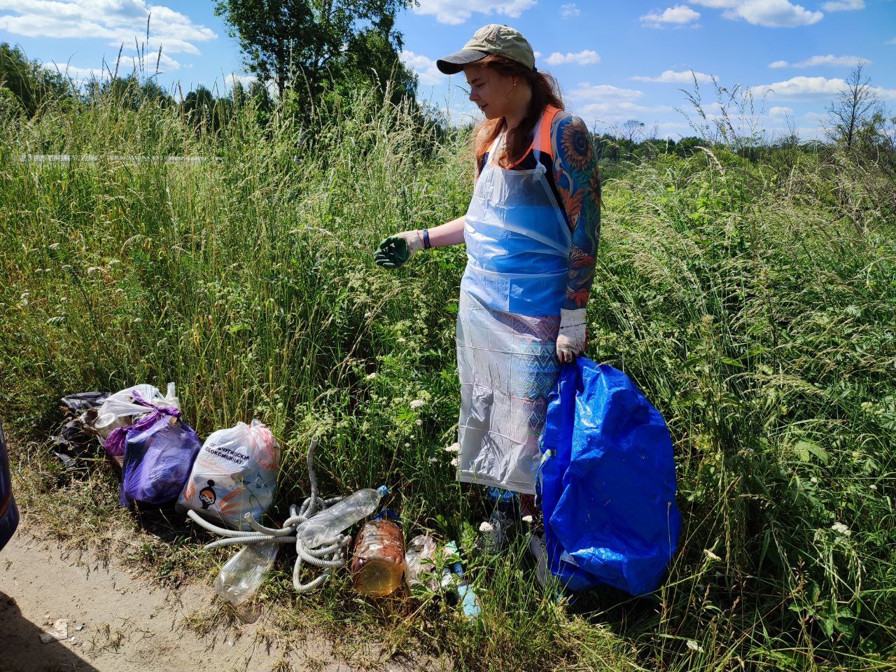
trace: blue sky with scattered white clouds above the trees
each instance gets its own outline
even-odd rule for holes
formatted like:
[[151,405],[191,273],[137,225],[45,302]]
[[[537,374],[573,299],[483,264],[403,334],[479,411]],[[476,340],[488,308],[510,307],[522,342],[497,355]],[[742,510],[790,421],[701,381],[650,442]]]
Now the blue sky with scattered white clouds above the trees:
[[[659,137],[692,134],[676,111],[686,105],[680,89],[693,89],[692,69],[710,103],[711,76],[752,90],[752,121],[770,135],[789,125],[818,135],[824,108],[858,60],[896,114],[896,0],[418,0],[398,22],[403,59],[418,72],[420,97],[457,122],[478,110],[462,74],[445,77],[435,59],[492,22],[521,30],[566,107],[599,131],[638,119]],[[179,82],[184,93],[200,83],[222,90],[245,75],[211,2],[0,0],[0,41],[76,78],[99,73],[104,60],[114,66],[122,45],[121,70],[129,72],[135,41],[147,42],[146,70],[155,71],[161,47],[159,82]]]

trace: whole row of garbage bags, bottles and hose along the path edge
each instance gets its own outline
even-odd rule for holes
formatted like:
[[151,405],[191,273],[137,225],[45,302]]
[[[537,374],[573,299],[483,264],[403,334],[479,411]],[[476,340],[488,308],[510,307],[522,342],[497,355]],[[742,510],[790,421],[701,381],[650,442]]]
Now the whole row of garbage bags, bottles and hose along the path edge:
[[[403,582],[412,593],[440,591],[475,618],[478,599],[463,579],[456,544],[437,549],[433,538],[418,535],[405,546],[397,517],[380,513],[353,539],[348,530],[375,512],[388,488],[365,488],[346,497],[318,497],[308,452],[312,495],[282,530],[260,524],[274,497],[280,445],[259,420],[212,432],[202,443],[183,418],[174,383],[163,394],[139,384],[114,394],[83,392],[65,397],[65,422],[54,438],[56,454],[72,469],[96,452],[96,442],[121,471],[119,504],[150,508],[174,504],[202,528],[223,538],[207,547],[245,545],[220,570],[215,590],[237,606],[254,595],[271,570],[283,542],[297,545],[294,583],[312,590],[332,570],[348,565],[355,590],[384,597]],[[223,526],[223,527],[219,527]],[[340,539],[333,544],[334,539]],[[325,572],[301,583],[302,562]],[[437,562],[440,560],[440,562]],[[436,565],[438,564],[438,569]],[[314,566],[311,566],[314,569]]]

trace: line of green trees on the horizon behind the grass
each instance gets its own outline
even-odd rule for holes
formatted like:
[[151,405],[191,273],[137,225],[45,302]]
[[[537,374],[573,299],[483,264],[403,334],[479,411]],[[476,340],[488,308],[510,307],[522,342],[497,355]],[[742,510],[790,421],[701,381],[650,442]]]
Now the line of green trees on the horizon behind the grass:
[[[125,76],[108,71],[78,85],[56,69],[29,60],[20,47],[0,44],[0,115],[39,114],[50,101],[86,104],[113,99],[125,108],[151,103],[177,106],[202,132],[215,133],[232,118],[235,108],[252,104],[260,123],[266,123],[275,106],[289,105],[289,114],[310,119],[314,107],[349,92],[373,90],[385,101],[404,101],[415,108],[422,123],[447,132],[448,125],[434,109],[417,100],[417,75],[401,62],[402,36],[395,30],[398,13],[414,0],[216,0],[215,13],[224,19],[228,34],[237,39],[246,71],[254,78],[244,86],[234,82],[227,95],[218,96],[200,85],[177,90],[177,99],[159,85],[156,75],[134,71]],[[143,55],[145,56],[145,55]],[[119,54],[120,58],[120,54]],[[141,58],[145,64],[145,58]],[[896,117],[888,116],[874,87],[858,65],[847,88],[831,101],[825,125],[826,140],[847,154],[874,154],[892,160],[896,143]],[[602,134],[593,133],[595,149],[605,163],[661,154],[688,156],[700,147],[722,144],[746,159],[762,159],[777,149],[818,151],[815,141],[800,142],[791,129],[774,141],[755,129],[744,134],[733,117],[756,118],[753,99],[745,90],[725,90],[717,84],[717,97],[728,97],[734,115],[707,116],[702,110],[699,86],[683,90],[696,110],[694,135],[679,140],[659,139],[645,125],[630,119]],[[737,99],[738,91],[741,95]],[[282,109],[281,109],[282,111]],[[686,115],[685,115],[686,116]],[[304,122],[303,122],[304,126]],[[462,129],[461,129],[462,130]]]

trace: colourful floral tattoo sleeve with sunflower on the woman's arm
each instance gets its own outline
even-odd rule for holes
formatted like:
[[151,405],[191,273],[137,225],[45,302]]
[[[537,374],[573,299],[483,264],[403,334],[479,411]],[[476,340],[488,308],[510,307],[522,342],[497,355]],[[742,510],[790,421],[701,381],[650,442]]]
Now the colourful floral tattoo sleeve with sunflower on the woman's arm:
[[588,127],[578,116],[564,115],[551,129],[554,179],[573,232],[564,308],[588,304],[594,282],[594,257],[600,239],[600,172]]

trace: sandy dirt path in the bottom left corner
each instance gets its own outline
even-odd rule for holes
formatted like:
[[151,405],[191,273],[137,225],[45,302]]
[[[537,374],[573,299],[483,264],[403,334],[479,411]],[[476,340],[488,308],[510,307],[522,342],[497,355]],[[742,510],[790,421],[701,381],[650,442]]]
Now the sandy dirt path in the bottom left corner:
[[[155,588],[92,554],[73,555],[20,528],[0,551],[0,672],[353,669],[335,660],[323,641],[309,639],[289,656],[269,650],[255,636],[259,623],[205,637],[186,629],[185,617],[211,598],[208,586],[177,594]],[[68,637],[40,642],[59,619],[67,620]]]

